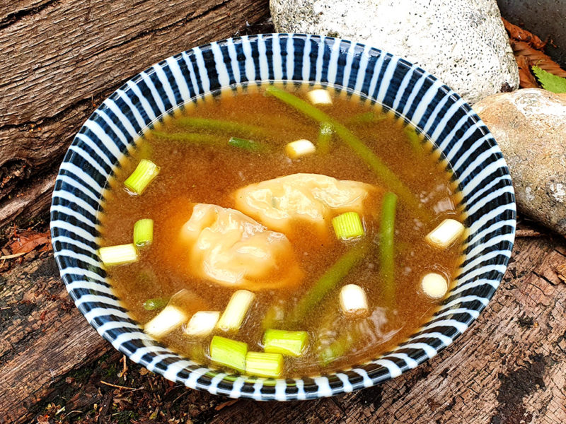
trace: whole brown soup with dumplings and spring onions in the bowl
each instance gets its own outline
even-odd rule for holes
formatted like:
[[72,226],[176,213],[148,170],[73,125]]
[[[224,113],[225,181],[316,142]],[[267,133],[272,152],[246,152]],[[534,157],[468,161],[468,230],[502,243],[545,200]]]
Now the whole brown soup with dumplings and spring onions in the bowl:
[[461,261],[438,151],[332,88],[189,103],[108,188],[100,258],[115,294],[149,335],[228,372],[303,377],[376,358],[429,320]]

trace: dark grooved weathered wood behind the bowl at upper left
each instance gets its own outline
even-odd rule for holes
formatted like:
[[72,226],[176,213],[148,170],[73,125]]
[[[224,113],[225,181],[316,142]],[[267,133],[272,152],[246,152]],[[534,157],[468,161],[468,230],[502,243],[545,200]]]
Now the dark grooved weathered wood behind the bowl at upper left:
[[[46,211],[52,175],[105,97],[171,54],[268,16],[267,0],[21,0],[0,6],[0,228]],[[46,182],[48,181],[48,182]]]

